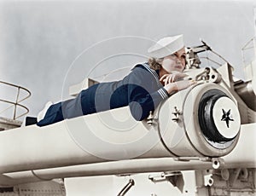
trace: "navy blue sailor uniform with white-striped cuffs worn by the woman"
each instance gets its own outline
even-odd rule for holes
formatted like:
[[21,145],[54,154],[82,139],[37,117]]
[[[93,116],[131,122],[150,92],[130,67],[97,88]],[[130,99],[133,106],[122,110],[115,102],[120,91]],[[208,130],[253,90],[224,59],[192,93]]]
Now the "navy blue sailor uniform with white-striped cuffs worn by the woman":
[[143,63],[135,66],[122,80],[95,84],[82,90],[75,99],[52,105],[38,126],[125,106],[129,106],[132,117],[140,121],[167,98],[158,72]]

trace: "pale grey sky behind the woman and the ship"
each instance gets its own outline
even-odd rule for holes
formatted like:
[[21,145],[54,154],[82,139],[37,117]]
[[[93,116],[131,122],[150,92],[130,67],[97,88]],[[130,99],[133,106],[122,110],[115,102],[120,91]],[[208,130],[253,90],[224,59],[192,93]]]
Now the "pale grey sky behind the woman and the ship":
[[[47,101],[71,98],[70,85],[120,78],[147,61],[154,41],[177,34],[187,46],[202,38],[245,78],[241,48],[255,35],[253,7],[253,0],[2,0],[0,80],[29,89],[24,104],[36,116]],[[0,92],[9,97],[9,89]]]

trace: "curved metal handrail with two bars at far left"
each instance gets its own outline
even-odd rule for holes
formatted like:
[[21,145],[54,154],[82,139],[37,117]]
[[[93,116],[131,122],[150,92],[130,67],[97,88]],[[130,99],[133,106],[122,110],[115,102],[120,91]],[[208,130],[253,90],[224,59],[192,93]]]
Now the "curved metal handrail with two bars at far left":
[[[28,97],[30,97],[30,96],[32,95],[31,92],[30,92],[28,89],[26,89],[26,88],[24,88],[24,87],[21,87],[21,86],[18,86],[18,85],[15,85],[15,84],[6,83],[6,82],[3,82],[3,81],[0,81],[0,84],[5,84],[5,85],[8,85],[8,86],[17,88],[17,95],[16,95],[15,101],[8,101],[8,100],[2,100],[2,99],[0,99],[0,102],[5,102],[5,103],[11,104],[10,107],[5,108],[2,112],[5,112],[5,111],[9,110],[10,108],[15,107],[14,116],[13,116],[13,119],[14,119],[14,120],[17,119],[17,118],[20,118],[20,117],[22,117],[22,116],[24,116],[24,115],[26,115],[26,113],[29,112],[29,109],[28,109],[27,107],[21,105],[20,102],[21,102],[21,101],[24,101],[24,100],[26,100]],[[27,95],[26,95],[23,99],[20,99],[20,100],[19,100],[19,98],[20,98],[20,89],[24,90],[24,91],[27,93]],[[24,109],[26,110],[26,112],[23,112],[23,113],[21,113],[19,116],[16,116],[17,107],[22,107],[22,108],[24,108]],[[2,113],[2,112],[0,112],[0,113]]]

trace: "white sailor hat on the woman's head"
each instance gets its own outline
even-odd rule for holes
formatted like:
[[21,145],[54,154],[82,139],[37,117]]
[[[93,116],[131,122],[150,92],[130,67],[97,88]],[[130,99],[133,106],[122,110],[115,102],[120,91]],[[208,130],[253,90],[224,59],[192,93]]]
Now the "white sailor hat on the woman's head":
[[148,55],[154,58],[162,58],[172,55],[183,47],[183,35],[164,37],[148,49]]

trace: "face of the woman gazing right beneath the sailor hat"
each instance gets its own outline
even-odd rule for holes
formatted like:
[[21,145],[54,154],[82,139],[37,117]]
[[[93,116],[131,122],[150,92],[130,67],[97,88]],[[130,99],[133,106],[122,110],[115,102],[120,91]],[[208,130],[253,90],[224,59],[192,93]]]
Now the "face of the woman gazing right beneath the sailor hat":
[[166,72],[172,71],[183,72],[186,64],[186,52],[185,48],[178,50],[172,55],[167,55],[162,61],[162,68]]

